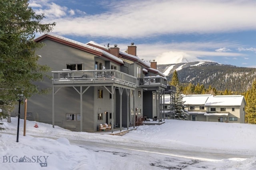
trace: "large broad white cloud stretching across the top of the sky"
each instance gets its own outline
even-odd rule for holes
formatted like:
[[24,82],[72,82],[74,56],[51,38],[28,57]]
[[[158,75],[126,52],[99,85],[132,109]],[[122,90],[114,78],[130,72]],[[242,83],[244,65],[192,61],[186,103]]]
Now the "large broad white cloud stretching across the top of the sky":
[[[79,33],[83,36],[129,38],[166,33],[230,32],[256,28],[256,23],[252,22],[255,19],[254,6],[254,2],[249,0],[197,0],[196,2],[190,0],[130,0],[126,1],[125,5],[110,3],[109,11],[105,13],[72,18],[63,17],[57,20],[55,18],[51,21],[58,23],[54,27],[57,33],[71,35]],[[49,11],[46,10],[46,12]],[[51,12],[51,14],[56,13]],[[57,12],[56,16],[65,15]],[[84,27],[90,29],[83,31]]]

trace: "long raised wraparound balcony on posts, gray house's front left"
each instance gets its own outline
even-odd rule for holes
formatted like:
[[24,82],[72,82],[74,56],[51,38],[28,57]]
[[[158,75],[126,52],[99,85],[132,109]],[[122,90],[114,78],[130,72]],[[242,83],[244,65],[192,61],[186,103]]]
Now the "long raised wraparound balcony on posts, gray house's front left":
[[116,83],[136,88],[137,78],[118,70],[62,70],[52,71],[53,84],[98,84]]

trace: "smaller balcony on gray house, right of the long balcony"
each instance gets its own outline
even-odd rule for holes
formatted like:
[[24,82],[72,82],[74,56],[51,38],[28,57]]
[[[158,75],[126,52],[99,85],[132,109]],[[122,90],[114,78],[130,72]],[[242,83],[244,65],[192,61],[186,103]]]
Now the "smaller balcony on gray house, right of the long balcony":
[[150,88],[150,87],[163,87],[167,88],[167,80],[161,76],[147,76],[143,78],[139,78],[140,87],[142,88]]

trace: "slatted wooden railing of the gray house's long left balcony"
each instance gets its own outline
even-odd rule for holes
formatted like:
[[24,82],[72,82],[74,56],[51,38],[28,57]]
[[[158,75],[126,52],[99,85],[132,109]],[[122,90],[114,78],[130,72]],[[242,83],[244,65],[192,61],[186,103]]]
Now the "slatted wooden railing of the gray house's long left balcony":
[[137,84],[137,78],[118,70],[52,71],[52,80],[120,80]]

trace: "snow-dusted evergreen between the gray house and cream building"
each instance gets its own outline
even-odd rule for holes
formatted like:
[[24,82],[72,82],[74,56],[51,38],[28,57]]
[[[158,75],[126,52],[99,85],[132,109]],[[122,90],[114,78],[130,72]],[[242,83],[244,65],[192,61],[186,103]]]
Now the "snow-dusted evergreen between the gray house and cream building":
[[183,96],[180,90],[180,86],[176,86],[176,93],[174,95],[174,105],[175,105],[175,119],[187,120],[188,114],[184,111]]

